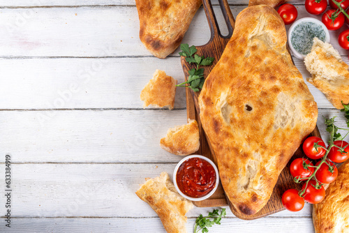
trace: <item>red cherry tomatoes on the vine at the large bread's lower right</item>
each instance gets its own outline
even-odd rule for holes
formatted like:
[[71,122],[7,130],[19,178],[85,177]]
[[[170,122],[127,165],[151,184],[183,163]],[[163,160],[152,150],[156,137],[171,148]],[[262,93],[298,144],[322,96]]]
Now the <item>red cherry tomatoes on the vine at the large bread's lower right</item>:
[[[343,152],[336,146],[343,148]],[[322,202],[325,198],[325,188],[322,184],[332,183],[338,176],[338,170],[334,163],[342,163],[349,158],[349,144],[341,140],[334,141],[334,146],[329,149],[329,146],[326,147],[325,142],[320,137],[308,137],[302,148],[308,158],[318,160],[318,162],[314,166],[308,158],[296,158],[292,161],[290,173],[295,181],[310,180],[304,182],[301,191],[289,189],[283,193],[283,206],[289,211],[300,211],[303,209],[304,201],[311,204]],[[329,151],[327,158],[322,161],[322,157],[327,151]]]

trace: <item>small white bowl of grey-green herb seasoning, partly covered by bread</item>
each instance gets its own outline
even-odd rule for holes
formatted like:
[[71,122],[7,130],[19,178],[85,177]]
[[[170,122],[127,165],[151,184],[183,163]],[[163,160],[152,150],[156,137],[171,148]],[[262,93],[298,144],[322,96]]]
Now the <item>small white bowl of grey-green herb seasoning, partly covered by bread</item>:
[[329,31],[320,20],[304,17],[294,22],[288,30],[288,46],[292,55],[304,59],[311,52],[315,37],[329,43]]

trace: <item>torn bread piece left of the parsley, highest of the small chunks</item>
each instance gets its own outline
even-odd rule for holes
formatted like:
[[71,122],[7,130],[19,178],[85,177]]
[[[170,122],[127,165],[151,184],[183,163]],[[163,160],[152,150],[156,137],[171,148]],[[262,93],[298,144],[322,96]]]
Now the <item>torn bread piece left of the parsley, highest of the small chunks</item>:
[[143,107],[168,107],[172,110],[174,96],[176,95],[177,80],[166,75],[163,70],[156,70],[153,78],[145,85],[140,93],[140,100],[144,101]]

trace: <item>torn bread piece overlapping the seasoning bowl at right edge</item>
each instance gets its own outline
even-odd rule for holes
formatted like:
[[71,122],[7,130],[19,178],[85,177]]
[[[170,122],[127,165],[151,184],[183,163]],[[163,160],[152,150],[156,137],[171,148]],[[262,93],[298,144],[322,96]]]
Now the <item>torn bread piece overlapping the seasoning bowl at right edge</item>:
[[307,80],[340,110],[343,108],[341,101],[349,103],[349,67],[332,45],[318,38],[313,41],[311,52],[304,59],[306,69],[312,75]]

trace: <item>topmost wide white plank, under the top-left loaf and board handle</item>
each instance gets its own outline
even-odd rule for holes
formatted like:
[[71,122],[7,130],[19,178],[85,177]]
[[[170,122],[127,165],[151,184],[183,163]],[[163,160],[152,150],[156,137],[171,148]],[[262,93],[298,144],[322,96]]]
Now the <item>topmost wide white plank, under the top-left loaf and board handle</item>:
[[[236,17],[246,6],[232,7]],[[309,15],[297,7],[299,18]],[[219,6],[214,6],[218,10]],[[218,23],[224,25],[223,18]],[[224,27],[221,27],[222,29]],[[347,29],[344,26],[342,30]],[[138,13],[131,7],[101,8],[3,8],[0,14],[0,57],[105,57],[151,56],[138,38]],[[332,43],[340,31],[331,31]],[[209,27],[203,8],[198,10],[183,43],[203,45],[209,40]],[[179,50],[174,52],[177,54]],[[160,61],[160,60],[159,60]]]

